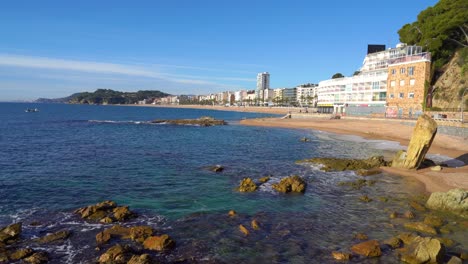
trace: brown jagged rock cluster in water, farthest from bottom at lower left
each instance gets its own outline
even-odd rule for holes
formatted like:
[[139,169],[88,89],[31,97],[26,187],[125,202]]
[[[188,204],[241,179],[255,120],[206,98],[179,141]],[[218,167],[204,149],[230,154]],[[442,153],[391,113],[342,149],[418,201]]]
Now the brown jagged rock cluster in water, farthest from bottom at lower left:
[[79,208],[75,210],[75,213],[79,214],[83,219],[103,223],[125,221],[135,216],[135,214],[128,209],[128,206],[117,206],[113,201],[104,201]]

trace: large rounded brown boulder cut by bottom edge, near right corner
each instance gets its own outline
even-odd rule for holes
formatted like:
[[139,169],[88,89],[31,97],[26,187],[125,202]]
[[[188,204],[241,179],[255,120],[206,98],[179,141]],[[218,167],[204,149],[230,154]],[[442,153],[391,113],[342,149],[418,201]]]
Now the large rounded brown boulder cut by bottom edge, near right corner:
[[405,247],[405,252],[402,260],[408,263],[442,263],[445,248],[437,239],[418,236]]

